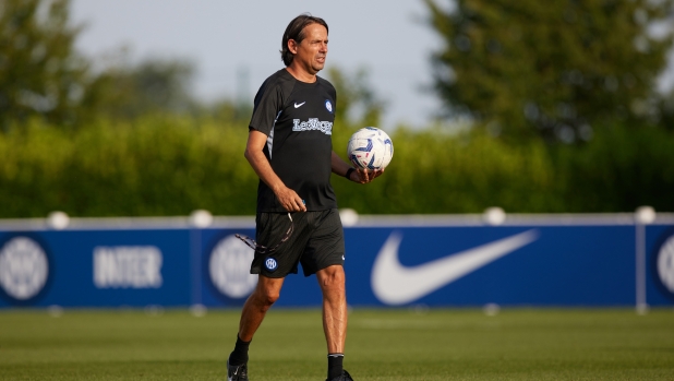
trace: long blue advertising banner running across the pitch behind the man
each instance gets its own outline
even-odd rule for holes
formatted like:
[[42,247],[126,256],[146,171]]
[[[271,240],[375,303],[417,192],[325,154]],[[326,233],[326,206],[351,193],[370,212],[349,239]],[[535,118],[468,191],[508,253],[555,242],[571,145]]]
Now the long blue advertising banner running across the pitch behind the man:
[[[674,305],[674,221],[377,218],[345,227],[352,306]],[[0,308],[239,307],[257,278],[234,234],[254,236],[254,226],[1,229]],[[321,300],[300,270],[277,306]]]

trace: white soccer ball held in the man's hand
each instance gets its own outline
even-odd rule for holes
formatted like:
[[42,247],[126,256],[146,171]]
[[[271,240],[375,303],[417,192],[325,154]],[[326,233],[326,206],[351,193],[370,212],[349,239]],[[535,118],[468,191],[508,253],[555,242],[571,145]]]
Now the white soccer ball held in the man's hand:
[[384,169],[393,158],[393,142],[386,132],[376,127],[365,127],[351,135],[347,155],[359,168]]

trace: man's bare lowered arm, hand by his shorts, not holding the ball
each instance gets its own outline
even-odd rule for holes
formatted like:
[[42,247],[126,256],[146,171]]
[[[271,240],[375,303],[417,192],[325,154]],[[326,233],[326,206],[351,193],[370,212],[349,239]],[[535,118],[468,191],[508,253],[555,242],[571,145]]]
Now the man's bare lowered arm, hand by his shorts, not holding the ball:
[[260,131],[251,130],[248,134],[248,142],[245,143],[243,156],[245,156],[260,179],[274,191],[276,199],[286,211],[306,212],[306,206],[304,206],[302,198],[300,198],[296,191],[286,187],[284,181],[281,181],[274,169],[272,169],[269,160],[267,160],[267,157],[262,151],[265,144],[267,144],[267,135]]

